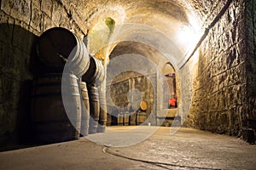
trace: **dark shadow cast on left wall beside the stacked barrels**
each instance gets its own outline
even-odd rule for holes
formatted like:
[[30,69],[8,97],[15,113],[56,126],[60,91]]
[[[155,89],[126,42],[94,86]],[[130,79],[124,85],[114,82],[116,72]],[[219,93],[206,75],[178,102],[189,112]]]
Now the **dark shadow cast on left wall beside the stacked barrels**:
[[0,150],[32,142],[32,79],[45,69],[36,55],[37,40],[20,26],[0,25]]

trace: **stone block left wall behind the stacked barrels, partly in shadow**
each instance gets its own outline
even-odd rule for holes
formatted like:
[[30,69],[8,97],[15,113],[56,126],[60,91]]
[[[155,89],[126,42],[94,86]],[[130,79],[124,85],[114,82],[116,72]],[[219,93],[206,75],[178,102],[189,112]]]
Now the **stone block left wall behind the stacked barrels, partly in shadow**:
[[73,30],[79,37],[87,30],[79,26],[75,10],[59,0],[0,3],[0,144],[5,144],[15,142],[17,136],[28,139],[31,133],[27,124],[37,38],[55,26]]

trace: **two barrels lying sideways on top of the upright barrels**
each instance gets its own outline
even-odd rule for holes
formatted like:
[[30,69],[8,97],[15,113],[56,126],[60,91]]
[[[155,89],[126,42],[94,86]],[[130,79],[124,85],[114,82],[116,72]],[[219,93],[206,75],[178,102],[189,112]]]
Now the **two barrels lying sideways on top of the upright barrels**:
[[44,31],[38,38],[37,55],[44,65],[39,75],[71,73],[89,84],[101,83],[106,75],[102,61],[88,54],[84,42],[62,27]]

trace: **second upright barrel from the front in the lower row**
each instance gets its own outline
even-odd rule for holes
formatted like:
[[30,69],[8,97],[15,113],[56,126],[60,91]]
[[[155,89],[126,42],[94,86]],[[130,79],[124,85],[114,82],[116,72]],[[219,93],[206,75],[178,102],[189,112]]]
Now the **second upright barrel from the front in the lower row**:
[[81,116],[81,129],[80,136],[87,136],[89,133],[89,120],[90,120],[90,103],[88,91],[85,82],[80,82],[81,97],[82,97],[82,116]]

